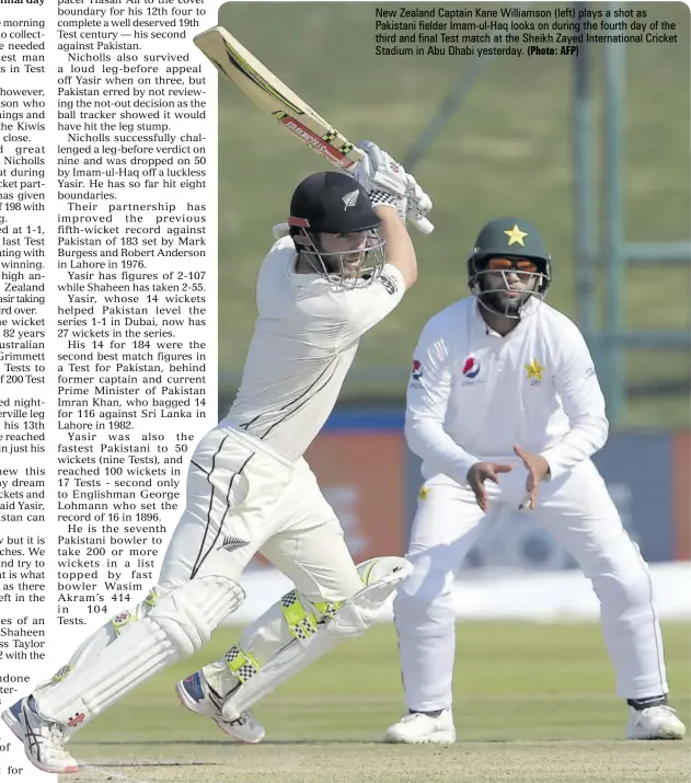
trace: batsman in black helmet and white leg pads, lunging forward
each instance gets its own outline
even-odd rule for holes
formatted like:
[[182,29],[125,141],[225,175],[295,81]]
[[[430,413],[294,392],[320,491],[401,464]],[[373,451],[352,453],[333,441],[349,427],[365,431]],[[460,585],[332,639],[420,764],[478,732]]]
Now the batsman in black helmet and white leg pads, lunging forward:
[[[331,649],[364,633],[410,573],[402,557],[356,566],[303,452],[321,429],[361,335],[417,276],[402,218],[429,198],[371,142],[357,180],[313,174],[260,269],[258,318],[242,388],[199,442],[187,505],[157,588],[101,629],[62,679],[2,714],[38,769],[74,772],[68,736],[166,666],[198,650],[244,599],[243,568],[261,551],[295,584],[226,656],[177,684],[185,706],[227,734],[260,741],[250,707]],[[67,675],[67,676],[65,676]],[[59,679],[59,678],[58,678]]]

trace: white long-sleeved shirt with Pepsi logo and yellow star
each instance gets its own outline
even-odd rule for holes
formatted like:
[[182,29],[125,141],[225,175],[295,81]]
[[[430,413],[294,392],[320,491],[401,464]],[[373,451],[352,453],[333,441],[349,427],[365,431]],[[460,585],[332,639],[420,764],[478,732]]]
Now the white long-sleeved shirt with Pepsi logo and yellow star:
[[423,475],[467,484],[479,461],[542,454],[555,477],[607,441],[592,358],[566,315],[533,300],[508,335],[491,330],[475,297],[431,318],[415,349],[405,436]]

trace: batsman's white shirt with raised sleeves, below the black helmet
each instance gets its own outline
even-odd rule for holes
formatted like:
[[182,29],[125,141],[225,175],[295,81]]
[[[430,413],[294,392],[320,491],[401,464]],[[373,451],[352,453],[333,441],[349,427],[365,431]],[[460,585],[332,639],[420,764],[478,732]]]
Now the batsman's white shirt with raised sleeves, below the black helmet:
[[335,291],[320,275],[296,274],[296,260],[286,237],[262,264],[258,318],[224,419],[289,460],[303,454],[331,414],[362,334],[405,292],[392,264],[369,286]]

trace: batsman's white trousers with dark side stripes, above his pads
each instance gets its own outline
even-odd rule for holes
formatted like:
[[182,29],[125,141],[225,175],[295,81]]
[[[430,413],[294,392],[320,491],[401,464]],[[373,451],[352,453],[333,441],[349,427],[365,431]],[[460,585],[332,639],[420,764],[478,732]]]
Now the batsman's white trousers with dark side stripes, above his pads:
[[215,571],[240,582],[261,552],[313,601],[341,601],[362,587],[333,508],[303,459],[291,463],[223,423],[192,457],[187,502],[165,553],[168,591]]

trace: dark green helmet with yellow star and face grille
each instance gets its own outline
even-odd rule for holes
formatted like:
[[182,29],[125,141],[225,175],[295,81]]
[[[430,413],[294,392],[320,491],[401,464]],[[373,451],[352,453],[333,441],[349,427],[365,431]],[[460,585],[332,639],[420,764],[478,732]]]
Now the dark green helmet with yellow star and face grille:
[[[497,258],[505,260],[505,266],[491,268],[492,260]],[[522,218],[495,218],[482,228],[468,258],[468,287],[488,310],[520,318],[533,297],[544,299],[551,283],[550,262],[532,223]],[[511,272],[517,275],[509,280]]]

